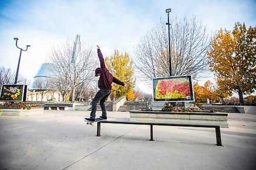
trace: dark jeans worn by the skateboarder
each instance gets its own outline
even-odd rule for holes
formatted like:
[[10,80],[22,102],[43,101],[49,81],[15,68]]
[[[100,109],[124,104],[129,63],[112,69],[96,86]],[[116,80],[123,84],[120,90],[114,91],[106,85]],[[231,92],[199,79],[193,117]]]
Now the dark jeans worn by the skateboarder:
[[96,93],[93,101],[92,101],[92,111],[91,111],[91,118],[96,117],[96,110],[97,110],[97,104],[99,102],[101,110],[102,110],[102,116],[106,116],[106,108],[104,102],[106,99],[108,99],[108,96],[110,95],[111,90],[109,89],[99,89],[99,91]]

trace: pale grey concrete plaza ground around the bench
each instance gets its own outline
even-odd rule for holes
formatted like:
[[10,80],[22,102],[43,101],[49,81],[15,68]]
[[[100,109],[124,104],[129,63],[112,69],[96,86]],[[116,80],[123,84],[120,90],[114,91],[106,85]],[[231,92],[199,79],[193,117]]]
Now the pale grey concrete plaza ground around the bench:
[[[254,169],[256,114],[229,113],[229,128],[86,125],[90,111],[0,116],[0,169]],[[97,112],[97,116],[100,112]],[[129,112],[108,112],[129,120]]]

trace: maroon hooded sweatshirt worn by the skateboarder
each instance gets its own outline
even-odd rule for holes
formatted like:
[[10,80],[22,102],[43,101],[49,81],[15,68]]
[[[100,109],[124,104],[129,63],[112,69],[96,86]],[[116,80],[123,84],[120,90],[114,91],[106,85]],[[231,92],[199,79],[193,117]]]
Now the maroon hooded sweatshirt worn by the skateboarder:
[[124,83],[112,76],[110,71],[106,68],[104,58],[102,56],[102,53],[100,49],[98,49],[98,57],[100,61],[100,68],[101,68],[101,73],[98,81],[98,87],[99,88],[105,88],[105,89],[112,89],[112,82],[119,84],[121,86],[124,86]]

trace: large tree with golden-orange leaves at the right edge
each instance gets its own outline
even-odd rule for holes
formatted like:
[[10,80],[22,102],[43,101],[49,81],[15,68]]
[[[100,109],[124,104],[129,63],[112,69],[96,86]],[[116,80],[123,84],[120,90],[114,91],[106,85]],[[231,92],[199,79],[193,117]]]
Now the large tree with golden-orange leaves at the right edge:
[[233,31],[220,30],[208,52],[212,71],[222,81],[224,89],[236,91],[240,103],[243,94],[250,94],[256,88],[256,28],[246,29],[239,22]]

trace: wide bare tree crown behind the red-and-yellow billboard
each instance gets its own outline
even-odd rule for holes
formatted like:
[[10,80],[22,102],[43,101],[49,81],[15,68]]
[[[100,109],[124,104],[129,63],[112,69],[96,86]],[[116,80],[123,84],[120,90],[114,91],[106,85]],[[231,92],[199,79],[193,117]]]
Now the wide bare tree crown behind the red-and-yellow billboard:
[[[213,34],[212,34],[213,35]],[[213,36],[196,21],[177,17],[170,21],[172,75],[193,75],[197,80],[208,73],[206,52]],[[138,42],[133,57],[138,77],[151,84],[152,78],[169,76],[168,29],[160,21]]]

